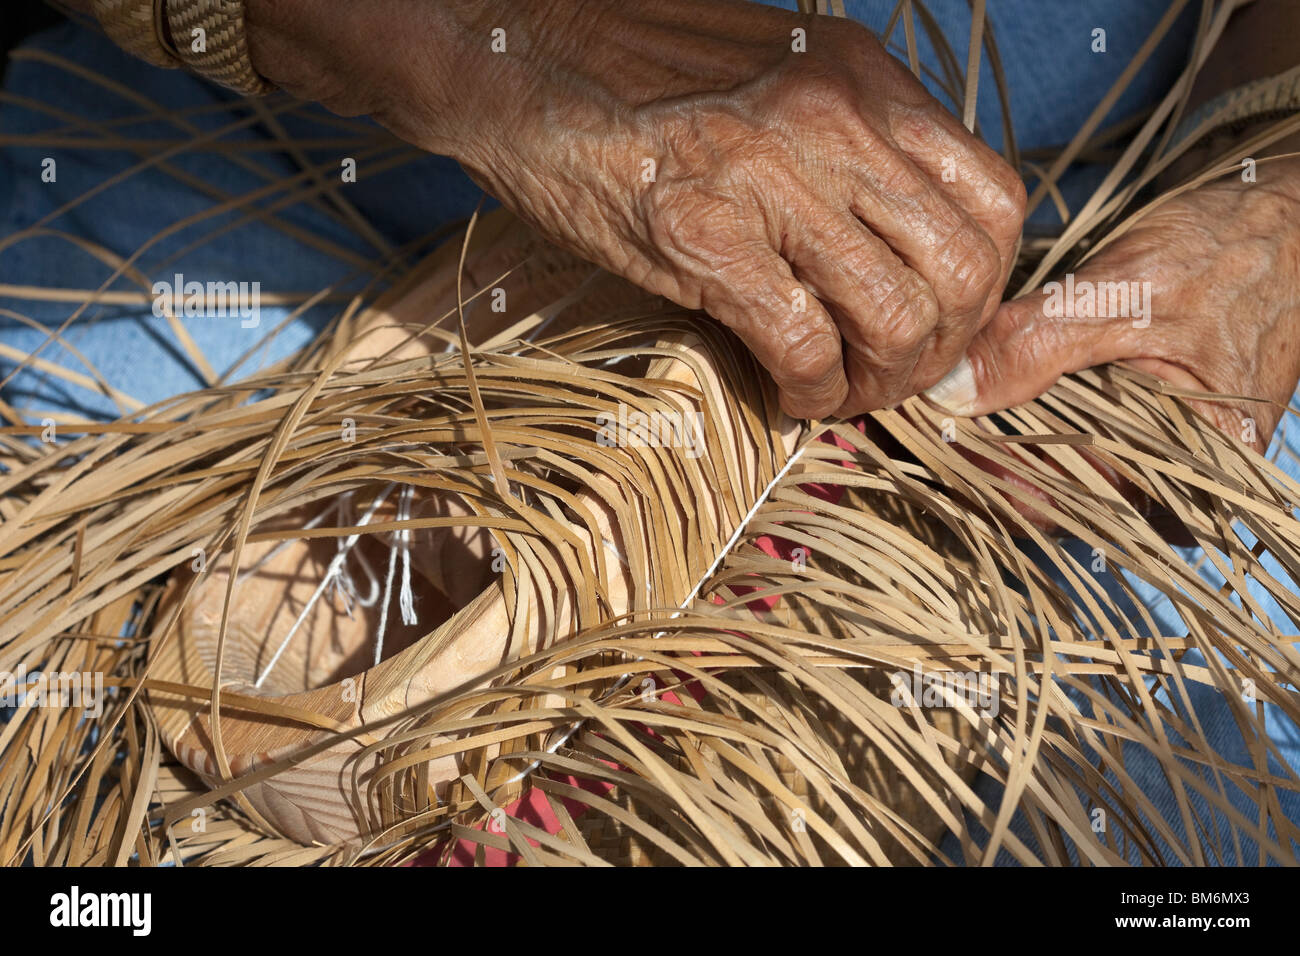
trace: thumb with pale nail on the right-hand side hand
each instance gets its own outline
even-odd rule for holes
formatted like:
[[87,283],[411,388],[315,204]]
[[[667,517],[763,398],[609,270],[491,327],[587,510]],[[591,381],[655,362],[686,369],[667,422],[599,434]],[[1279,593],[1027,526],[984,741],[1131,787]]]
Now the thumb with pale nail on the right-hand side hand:
[[[1004,302],[962,360],[927,389],[926,397],[956,415],[988,415],[1037,398],[1067,372],[1127,358],[1134,329],[1145,325],[1130,316],[1140,311],[1149,317],[1150,303],[1134,303],[1140,306],[1138,310],[1110,310],[1105,297],[1095,294],[1108,285],[1080,274],[1069,280],[1069,286],[1048,282],[1036,293]],[[1074,307],[1066,307],[1066,289],[1089,290],[1092,298],[1079,295]],[[1127,315],[1095,315],[1098,311]]]

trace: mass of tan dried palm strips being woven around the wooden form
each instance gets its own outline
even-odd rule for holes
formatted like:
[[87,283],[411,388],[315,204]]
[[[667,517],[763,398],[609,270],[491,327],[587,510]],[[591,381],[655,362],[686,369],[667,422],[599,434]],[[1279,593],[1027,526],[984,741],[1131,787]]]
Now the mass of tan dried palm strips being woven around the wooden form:
[[[1139,189],[1179,152],[1171,126],[1234,7],[1205,7],[1188,73],[1114,174],[1058,239],[1022,250],[1027,282],[1143,215]],[[915,62],[915,20],[932,40],[937,27],[910,0],[898,18]],[[996,49],[982,4],[974,21],[965,75],[941,57],[968,125],[978,51]],[[1102,107],[1039,157],[1036,199],[1110,142]],[[294,109],[136,144],[134,169],[183,179],[174,156],[240,157],[224,137],[259,122],[303,173],[213,195],[212,216],[287,229],[278,211],[307,198],[373,234],[289,142],[276,117]],[[57,137],[126,144],[65,122]],[[120,278],[148,289],[143,250],[68,241],[110,274],[51,341],[125,294]],[[122,418],[64,421],[81,437],[53,447],[3,410],[0,669],[116,688],[101,714],[20,708],[0,730],[5,861],[1296,861],[1282,801],[1300,777],[1266,715],[1300,721],[1295,639],[1271,623],[1300,620],[1300,488],[1199,411],[1223,397],[1110,367],[1000,416],[911,399],[794,427],[707,317],[504,215],[406,263],[386,247],[354,263],[376,287],[400,278],[256,376],[213,373],[151,407],[112,393]],[[498,287],[507,313],[486,307]],[[79,381],[110,390],[94,371]],[[611,447],[601,416],[620,408],[701,412],[701,454]],[[1138,583],[1186,628],[1161,632]],[[965,675],[996,706],[972,705]],[[1205,689],[1247,762],[1210,745]]]

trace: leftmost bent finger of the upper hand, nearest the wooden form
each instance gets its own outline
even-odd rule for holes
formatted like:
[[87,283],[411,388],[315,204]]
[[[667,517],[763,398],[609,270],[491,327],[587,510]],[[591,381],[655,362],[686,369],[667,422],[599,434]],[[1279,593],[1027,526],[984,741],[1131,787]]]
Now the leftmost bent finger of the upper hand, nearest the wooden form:
[[849,382],[840,333],[816,295],[767,245],[737,250],[705,286],[701,302],[771,373],[786,415],[826,418],[844,405]]

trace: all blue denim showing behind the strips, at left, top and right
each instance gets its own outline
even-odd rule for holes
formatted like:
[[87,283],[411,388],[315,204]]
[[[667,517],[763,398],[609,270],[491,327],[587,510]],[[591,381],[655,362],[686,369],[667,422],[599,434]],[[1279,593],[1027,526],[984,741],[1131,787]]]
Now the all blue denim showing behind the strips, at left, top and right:
[[[794,4],[789,0],[781,5],[793,8]],[[848,0],[849,13],[878,31],[885,26],[892,8],[893,0]],[[966,0],[930,0],[930,8],[956,49],[959,68],[965,70],[966,38],[970,29]],[[1166,3],[1165,0],[1062,0],[1061,3],[991,0],[988,8],[1010,87],[1017,138],[1022,148],[1035,148],[1060,146],[1069,140],[1128,64],[1162,16]],[[1108,125],[1158,101],[1176,78],[1186,62],[1193,26],[1191,13],[1192,10],[1188,10],[1188,16],[1179,21],[1150,62],[1138,74],[1128,91],[1106,117]],[[1097,27],[1106,31],[1105,53],[1093,53],[1091,49],[1092,31]],[[101,36],[73,25],[47,31],[31,39],[27,47],[57,53],[113,77],[129,90],[168,108],[196,108],[229,99],[226,94],[200,81],[176,72],[155,70],[131,60]],[[900,23],[892,36],[890,49],[905,56],[904,48],[904,30]],[[918,49],[922,62],[937,70],[939,60],[919,23]],[[936,95],[940,94],[936,83],[931,81],[928,86]],[[12,95],[30,100],[27,104],[0,104],[0,130],[6,134],[49,130],[66,122],[66,117],[43,113],[32,104],[46,104],[52,109],[95,122],[144,112],[138,103],[131,103],[116,92],[43,62],[10,64],[5,88]],[[998,147],[1000,107],[987,57],[982,69],[979,100],[980,129],[985,138]],[[191,121],[200,130],[211,131],[233,122],[239,116],[243,114],[224,109],[194,114]],[[324,114],[321,117],[320,124],[286,120],[286,125],[296,135],[338,135],[337,129],[325,121]],[[185,135],[162,122],[136,124],[121,131],[127,137],[157,139],[178,139]],[[252,125],[240,135],[255,138],[263,137],[264,133]],[[52,155],[57,161],[55,183],[44,183],[40,179],[42,160],[46,155]],[[321,163],[338,161],[338,156],[328,151],[311,155]],[[0,150],[0,282],[98,287],[109,271],[65,239],[26,239],[4,247],[4,237],[10,237],[16,230],[40,220],[62,203],[129,168],[134,161],[135,157],[125,152],[103,150],[58,150],[53,153],[30,147]],[[257,161],[277,174],[296,172],[287,157],[274,152],[261,155]],[[238,195],[264,183],[264,179],[239,169],[229,159],[213,152],[195,152],[177,157],[176,165],[226,194]],[[1105,169],[1095,166],[1070,170],[1062,182],[1062,191],[1071,208],[1078,209],[1082,206],[1104,174]],[[1031,182],[1031,190],[1032,186]],[[426,156],[376,176],[367,176],[363,163],[358,182],[347,187],[347,198],[390,243],[400,246],[432,233],[439,225],[469,215],[478,202],[480,191],[455,163]],[[211,200],[199,190],[183,186],[157,169],[147,169],[103,191],[73,213],[57,219],[52,228],[99,243],[118,255],[130,255],[148,243],[164,226],[185,215],[200,213],[209,207]],[[374,254],[374,250],[358,238],[354,230],[315,208],[299,204],[282,215],[302,229],[342,248],[367,256]],[[1052,222],[1054,219],[1056,213],[1050,203],[1046,203],[1040,208],[1035,221]],[[136,265],[151,281],[181,272],[186,278],[200,281],[213,277],[260,281],[264,290],[317,290],[332,282],[341,282],[354,271],[354,267],[342,258],[300,243],[261,222],[243,224],[238,229],[196,245],[176,261],[162,264],[178,248],[211,233],[214,225],[234,221],[235,216],[228,215],[181,230],[144,252]],[[114,287],[139,286],[120,282]],[[356,289],[359,281],[354,280],[342,287]],[[0,298],[0,308],[20,312],[47,328],[56,328],[70,315],[74,306]],[[276,342],[246,362],[238,373],[248,373],[300,347],[334,311],[337,307],[333,306],[316,308],[294,321]],[[237,369],[233,364],[237,358],[287,313],[287,308],[264,306],[261,325],[255,329],[243,329],[234,319],[182,321],[216,371],[234,373]],[[26,352],[40,345],[44,338],[44,332],[30,329],[0,313],[0,345]],[[192,367],[172,330],[147,308],[91,310],[72,325],[66,339],[81,350],[113,386],[146,403],[203,385],[202,375]],[[42,356],[66,368],[84,371],[78,359],[61,346],[47,347]],[[0,355],[0,375],[8,375],[12,368],[13,360]],[[118,414],[114,405],[103,395],[60,382],[39,369],[27,369],[17,376],[4,389],[4,398],[34,419],[39,419],[44,411],[53,410],[92,416]],[[1279,427],[1269,454],[1287,473],[1300,477],[1297,468],[1300,428],[1294,425],[1287,428],[1286,424]],[[1076,557],[1087,564],[1089,558],[1087,549],[1078,542],[1069,546],[1078,548],[1080,553]],[[1199,550],[1190,550],[1186,558],[1196,563],[1202,555]],[[1266,559],[1265,563],[1279,580],[1290,581],[1277,562]],[[1204,562],[1201,574],[1216,584],[1222,583],[1222,578],[1208,562]],[[1186,626],[1167,598],[1131,578],[1126,578],[1126,581],[1132,596],[1150,609],[1162,633],[1186,632]],[[1294,588],[1294,583],[1291,585]],[[1108,589],[1123,601],[1130,600],[1119,580],[1109,579]],[[1265,605],[1283,633],[1295,633],[1296,626],[1280,613],[1262,589],[1252,584],[1251,591]],[[1136,618],[1131,615],[1131,619]],[[1218,695],[1209,688],[1196,687],[1192,689],[1191,701],[1179,702],[1184,709],[1188,704],[1195,708],[1208,736],[1225,760],[1249,765],[1242,736]],[[1275,708],[1266,710],[1271,740],[1292,766],[1300,766],[1300,731]],[[1158,813],[1182,832],[1182,823],[1174,810],[1174,793],[1156,761],[1134,747],[1124,749],[1124,760],[1127,770],[1150,796]],[[1271,758],[1270,769],[1286,773]],[[985,795],[996,797],[996,787],[987,782],[980,786]],[[1238,796],[1240,797],[1238,805],[1245,812],[1248,805],[1244,795]],[[1202,801],[1193,804],[1204,813]],[[1290,819],[1300,821],[1300,797],[1294,793],[1284,795],[1282,810]],[[1218,826],[1222,826],[1222,821]],[[1036,844],[1023,817],[1014,821],[1013,831],[1030,845]],[[957,847],[949,843],[945,851],[954,855]],[[1004,853],[1000,861],[1005,862],[1008,858]],[[1249,864],[1253,858],[1252,844],[1244,843],[1238,856],[1231,840],[1217,857],[1218,861],[1227,864]]]

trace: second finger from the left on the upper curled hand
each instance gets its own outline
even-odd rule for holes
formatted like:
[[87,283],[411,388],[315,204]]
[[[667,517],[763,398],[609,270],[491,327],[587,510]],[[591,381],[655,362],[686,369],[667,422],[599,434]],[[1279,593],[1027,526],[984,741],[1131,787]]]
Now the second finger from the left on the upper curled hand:
[[783,250],[794,274],[822,300],[844,342],[848,418],[901,402],[939,324],[926,281],[848,212],[803,229]]

